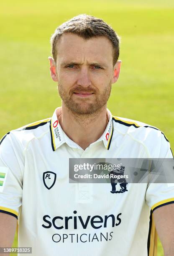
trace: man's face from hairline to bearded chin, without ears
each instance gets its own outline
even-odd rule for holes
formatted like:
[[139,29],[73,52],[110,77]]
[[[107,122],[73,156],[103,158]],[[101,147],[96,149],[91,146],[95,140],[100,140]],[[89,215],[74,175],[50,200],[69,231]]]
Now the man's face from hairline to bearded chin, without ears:
[[67,33],[56,47],[56,81],[62,105],[81,115],[97,113],[107,104],[114,82],[111,42],[104,36],[84,40]]

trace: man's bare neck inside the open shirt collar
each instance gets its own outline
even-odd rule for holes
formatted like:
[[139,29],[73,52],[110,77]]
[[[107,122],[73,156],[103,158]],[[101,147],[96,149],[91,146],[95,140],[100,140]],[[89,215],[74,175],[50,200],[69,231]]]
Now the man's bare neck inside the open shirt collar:
[[106,106],[93,115],[77,115],[63,105],[57,118],[64,133],[84,150],[102,136],[108,123]]

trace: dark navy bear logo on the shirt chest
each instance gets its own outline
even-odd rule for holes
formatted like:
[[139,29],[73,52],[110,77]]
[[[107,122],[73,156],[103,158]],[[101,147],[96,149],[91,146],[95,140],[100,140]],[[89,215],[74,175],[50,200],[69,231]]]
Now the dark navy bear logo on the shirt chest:
[[[110,174],[113,174],[114,176],[115,175],[120,176],[120,175],[124,175],[124,171],[125,171],[125,166],[120,166],[119,172],[111,171]],[[117,179],[117,178],[111,177],[110,178],[110,183],[111,183],[111,186],[112,186],[112,191],[110,191],[110,192],[113,193],[113,194],[114,193],[123,193],[125,191],[128,191],[128,189],[126,189],[126,185],[128,184],[128,182],[126,182],[125,178]],[[117,183],[120,183],[121,189],[116,191]]]

